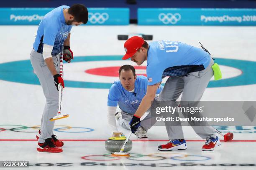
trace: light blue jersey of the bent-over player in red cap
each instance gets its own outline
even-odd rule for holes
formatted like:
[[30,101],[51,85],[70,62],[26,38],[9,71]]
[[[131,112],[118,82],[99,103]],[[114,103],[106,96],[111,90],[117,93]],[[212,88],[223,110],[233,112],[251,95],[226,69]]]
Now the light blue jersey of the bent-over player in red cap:
[[200,48],[170,40],[151,42],[147,59],[148,85],[161,82],[166,76],[204,70],[209,64],[209,53]]

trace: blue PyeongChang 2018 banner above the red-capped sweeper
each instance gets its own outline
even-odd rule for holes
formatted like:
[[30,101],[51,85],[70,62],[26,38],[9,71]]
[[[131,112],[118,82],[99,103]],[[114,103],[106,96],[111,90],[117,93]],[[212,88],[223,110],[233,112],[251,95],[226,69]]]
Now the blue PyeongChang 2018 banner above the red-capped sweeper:
[[138,25],[256,25],[256,9],[139,8]]

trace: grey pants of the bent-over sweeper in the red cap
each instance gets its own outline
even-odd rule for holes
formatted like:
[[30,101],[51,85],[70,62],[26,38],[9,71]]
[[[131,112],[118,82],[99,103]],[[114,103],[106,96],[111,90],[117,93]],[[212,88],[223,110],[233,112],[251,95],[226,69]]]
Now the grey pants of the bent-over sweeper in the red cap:
[[[176,100],[182,93],[182,101],[200,101],[205,89],[214,75],[212,65],[214,61],[211,59],[210,65],[205,70],[190,72],[185,76],[170,76],[166,81],[162,92],[159,95],[161,101],[173,101],[174,105]],[[187,115],[183,114],[184,117]],[[189,121],[191,122],[191,121]],[[208,137],[216,138],[215,131],[211,126],[193,126],[194,122],[190,125],[195,130],[195,133],[202,139]],[[175,127],[175,128],[174,128]],[[183,139],[182,126],[166,126],[169,139]]]

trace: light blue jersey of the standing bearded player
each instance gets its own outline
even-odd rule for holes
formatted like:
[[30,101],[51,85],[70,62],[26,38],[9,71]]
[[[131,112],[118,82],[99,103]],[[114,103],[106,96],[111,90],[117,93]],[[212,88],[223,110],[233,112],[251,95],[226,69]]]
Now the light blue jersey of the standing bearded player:
[[64,8],[69,6],[60,6],[47,13],[43,20],[41,20],[36,40],[33,48],[36,52],[43,53],[44,44],[54,46],[51,52],[52,55],[57,55],[61,51],[61,44],[67,39],[72,25],[65,23],[63,14]]

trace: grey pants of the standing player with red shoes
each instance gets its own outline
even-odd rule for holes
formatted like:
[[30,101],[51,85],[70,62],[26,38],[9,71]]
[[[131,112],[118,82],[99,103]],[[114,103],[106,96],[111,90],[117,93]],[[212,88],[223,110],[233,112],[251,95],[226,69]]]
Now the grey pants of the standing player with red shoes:
[[[59,72],[59,57],[60,55],[52,55],[57,72]],[[54,77],[44,62],[43,55],[35,50],[32,50],[30,60],[46,98],[46,104],[44,106],[44,112],[41,118],[41,136],[38,139],[38,143],[44,143],[47,138],[51,138],[51,135],[53,135],[55,121],[50,121],[49,119],[57,115],[59,91],[54,85]]]

